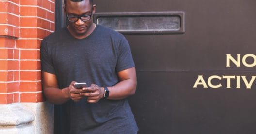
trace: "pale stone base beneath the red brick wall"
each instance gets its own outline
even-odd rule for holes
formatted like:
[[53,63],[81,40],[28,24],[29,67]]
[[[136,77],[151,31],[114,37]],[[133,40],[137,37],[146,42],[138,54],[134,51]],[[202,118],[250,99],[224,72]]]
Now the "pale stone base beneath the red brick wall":
[[53,110],[48,102],[0,105],[0,134],[53,134]]

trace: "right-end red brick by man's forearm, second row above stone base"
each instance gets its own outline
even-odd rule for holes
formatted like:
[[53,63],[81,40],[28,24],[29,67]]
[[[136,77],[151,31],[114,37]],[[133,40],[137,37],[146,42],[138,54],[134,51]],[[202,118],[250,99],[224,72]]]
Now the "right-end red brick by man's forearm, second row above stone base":
[[20,92],[42,91],[42,85],[41,85],[41,82],[38,82],[38,81],[20,82],[19,91]]

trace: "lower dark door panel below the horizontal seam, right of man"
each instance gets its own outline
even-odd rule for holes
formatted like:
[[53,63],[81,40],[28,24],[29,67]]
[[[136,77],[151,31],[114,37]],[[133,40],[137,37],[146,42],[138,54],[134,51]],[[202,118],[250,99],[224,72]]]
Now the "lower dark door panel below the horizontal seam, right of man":
[[[129,98],[140,134],[253,134],[255,90],[192,89],[194,76],[219,72],[139,71]],[[225,75],[240,75],[228,72]],[[244,75],[250,75],[250,72]],[[231,84],[231,87],[235,87]],[[244,86],[241,84],[241,87]]]

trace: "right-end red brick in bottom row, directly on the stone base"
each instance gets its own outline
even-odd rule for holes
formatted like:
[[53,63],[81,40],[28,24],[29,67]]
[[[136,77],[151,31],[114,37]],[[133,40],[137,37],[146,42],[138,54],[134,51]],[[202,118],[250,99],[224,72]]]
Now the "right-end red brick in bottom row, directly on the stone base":
[[43,102],[43,94],[40,93],[20,93],[20,102]]

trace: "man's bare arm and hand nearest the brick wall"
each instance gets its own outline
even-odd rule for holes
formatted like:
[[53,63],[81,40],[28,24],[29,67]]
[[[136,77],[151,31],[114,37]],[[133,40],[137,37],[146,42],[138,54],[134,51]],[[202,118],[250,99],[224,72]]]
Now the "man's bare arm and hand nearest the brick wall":
[[80,94],[74,94],[77,91],[74,88],[74,83],[75,81],[71,82],[69,87],[59,89],[56,76],[51,73],[42,72],[43,93],[50,103],[63,104],[69,99],[74,101],[82,99]]

